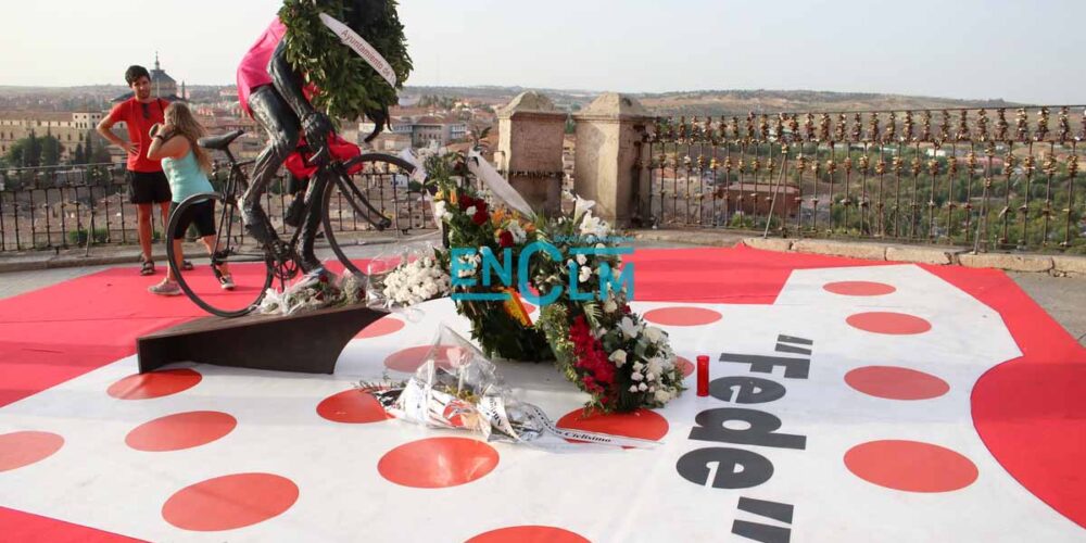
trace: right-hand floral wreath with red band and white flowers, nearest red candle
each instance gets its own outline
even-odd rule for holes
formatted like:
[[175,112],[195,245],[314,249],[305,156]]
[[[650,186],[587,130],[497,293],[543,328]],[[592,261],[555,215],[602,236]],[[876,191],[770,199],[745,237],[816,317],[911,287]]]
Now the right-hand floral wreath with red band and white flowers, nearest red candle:
[[[632,274],[621,268],[624,250],[610,226],[593,216],[592,205],[578,198],[572,216],[543,228],[545,239],[571,257],[541,260],[534,282],[540,292],[568,286],[594,294],[559,296],[542,308],[536,326],[566,377],[592,395],[590,407],[605,413],[661,407],[684,389],[682,371],[667,332],[630,310]],[[629,282],[621,282],[626,278]]]

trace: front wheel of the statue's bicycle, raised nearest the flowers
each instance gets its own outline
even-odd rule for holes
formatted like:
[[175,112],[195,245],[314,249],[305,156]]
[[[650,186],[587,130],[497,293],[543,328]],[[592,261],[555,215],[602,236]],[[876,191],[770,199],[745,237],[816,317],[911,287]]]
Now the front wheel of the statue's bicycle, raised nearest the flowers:
[[[359,166],[357,173],[345,174]],[[351,262],[341,247],[356,232],[402,228],[404,225],[396,210],[404,201],[408,203],[406,220],[412,220],[413,215],[419,213],[429,215],[427,209],[414,212],[411,209],[407,180],[414,171],[409,162],[396,156],[364,154],[348,161],[342,171],[329,176],[321,204],[324,232],[332,252],[348,270],[366,275],[358,264]],[[421,218],[425,219],[425,216]]]

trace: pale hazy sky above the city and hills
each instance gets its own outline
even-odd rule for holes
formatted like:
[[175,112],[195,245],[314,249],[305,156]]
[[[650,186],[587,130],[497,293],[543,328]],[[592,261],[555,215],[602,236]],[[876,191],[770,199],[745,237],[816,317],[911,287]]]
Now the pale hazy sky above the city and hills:
[[[229,84],[280,0],[3,0],[0,85]],[[409,85],[1086,103],[1086,0],[401,0]]]

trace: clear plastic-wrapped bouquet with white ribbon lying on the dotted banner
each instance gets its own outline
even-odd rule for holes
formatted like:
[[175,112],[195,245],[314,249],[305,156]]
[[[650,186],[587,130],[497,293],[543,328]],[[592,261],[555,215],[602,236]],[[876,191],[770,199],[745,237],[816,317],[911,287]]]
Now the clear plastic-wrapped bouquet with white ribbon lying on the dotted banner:
[[397,419],[428,428],[481,433],[487,441],[558,452],[583,451],[593,445],[652,447],[659,444],[556,427],[543,409],[510,393],[494,364],[481,351],[444,326],[414,377],[406,382],[363,382],[358,390],[372,395]]

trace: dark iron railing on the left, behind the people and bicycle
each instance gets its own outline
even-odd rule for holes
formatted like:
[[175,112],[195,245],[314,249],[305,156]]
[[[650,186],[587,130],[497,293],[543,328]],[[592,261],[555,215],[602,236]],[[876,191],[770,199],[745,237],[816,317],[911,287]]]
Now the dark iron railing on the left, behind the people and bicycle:
[[[225,169],[216,167],[213,184],[225,180]],[[396,231],[434,229],[429,203],[394,167],[367,167],[355,174],[354,181],[370,203],[392,219]],[[290,228],[282,219],[289,202],[286,177],[280,175],[264,202],[280,233]],[[338,191],[329,207],[337,233],[372,229]],[[155,240],[162,235],[157,213],[152,222]],[[0,169],[0,252],[89,250],[137,242],[136,206],[128,203],[123,165]]]

